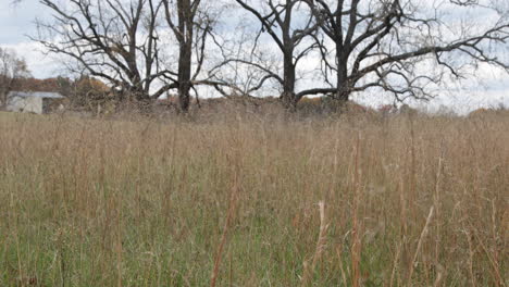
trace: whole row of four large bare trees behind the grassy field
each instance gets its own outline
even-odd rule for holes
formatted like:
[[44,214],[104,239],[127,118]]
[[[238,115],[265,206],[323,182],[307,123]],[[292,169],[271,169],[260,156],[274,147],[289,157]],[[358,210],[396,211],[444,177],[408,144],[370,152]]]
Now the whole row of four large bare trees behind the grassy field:
[[[71,72],[139,101],[177,95],[183,111],[203,87],[224,97],[277,95],[295,109],[306,96],[346,102],[370,89],[426,99],[480,65],[509,71],[499,57],[508,8],[487,0],[40,2],[53,17],[38,21],[33,39]],[[488,17],[461,24],[472,12]]]

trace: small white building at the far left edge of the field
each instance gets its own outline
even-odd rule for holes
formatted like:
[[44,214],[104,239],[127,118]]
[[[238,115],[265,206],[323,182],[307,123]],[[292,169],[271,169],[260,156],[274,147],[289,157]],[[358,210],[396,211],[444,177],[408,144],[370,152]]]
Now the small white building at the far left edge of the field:
[[8,95],[7,110],[42,114],[54,109],[63,109],[62,99],[64,97],[58,92],[11,91]]

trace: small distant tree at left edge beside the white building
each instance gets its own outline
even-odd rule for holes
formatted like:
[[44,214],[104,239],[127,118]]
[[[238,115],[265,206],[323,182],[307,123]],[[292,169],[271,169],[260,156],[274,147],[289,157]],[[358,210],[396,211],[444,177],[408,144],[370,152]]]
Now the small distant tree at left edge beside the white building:
[[16,80],[30,75],[25,60],[18,58],[14,51],[0,47],[0,110],[9,102],[9,92],[16,85]]

